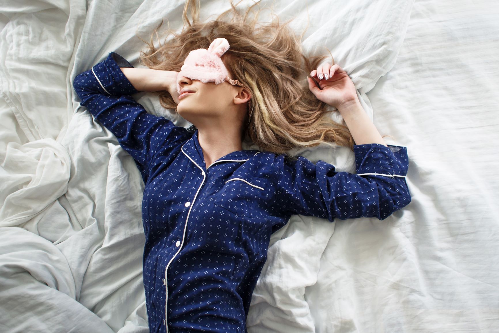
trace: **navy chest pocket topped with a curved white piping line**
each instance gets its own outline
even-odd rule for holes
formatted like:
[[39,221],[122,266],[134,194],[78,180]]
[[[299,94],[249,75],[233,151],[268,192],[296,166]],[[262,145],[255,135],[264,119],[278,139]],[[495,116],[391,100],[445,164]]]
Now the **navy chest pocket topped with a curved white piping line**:
[[232,175],[215,194],[214,204],[237,215],[264,216],[265,202],[270,197],[267,179],[250,175]]

